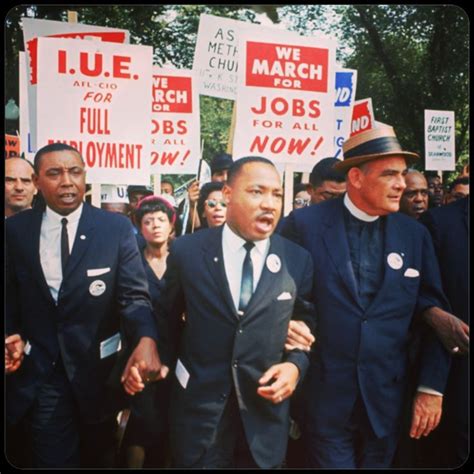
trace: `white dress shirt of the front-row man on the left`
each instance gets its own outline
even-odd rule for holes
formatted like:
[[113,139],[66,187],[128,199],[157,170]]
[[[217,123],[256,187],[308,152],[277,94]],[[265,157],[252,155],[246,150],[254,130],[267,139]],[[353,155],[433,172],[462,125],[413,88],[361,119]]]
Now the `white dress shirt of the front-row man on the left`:
[[82,213],[81,205],[71,214],[62,216],[46,206],[41,222],[40,233],[40,260],[43,274],[48,283],[49,291],[54,301],[58,301],[59,288],[63,281],[63,270],[61,267],[61,219],[66,217],[67,233],[69,241],[69,253],[76,238],[77,227]]

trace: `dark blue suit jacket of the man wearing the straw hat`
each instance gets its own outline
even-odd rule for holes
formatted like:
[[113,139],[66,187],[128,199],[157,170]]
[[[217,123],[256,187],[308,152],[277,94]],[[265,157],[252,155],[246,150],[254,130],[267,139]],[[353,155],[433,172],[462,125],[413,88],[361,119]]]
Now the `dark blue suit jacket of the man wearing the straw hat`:
[[[377,436],[395,430],[407,373],[415,311],[446,304],[431,238],[402,214],[386,217],[384,279],[364,311],[360,305],[343,217],[343,199],[290,214],[283,235],[312,255],[317,333],[308,373],[309,426],[321,435],[344,426],[358,394]],[[400,268],[392,268],[399,259]],[[397,265],[395,265],[396,267]],[[405,276],[408,274],[415,276]],[[443,391],[449,355],[433,334],[424,347],[419,383]]]

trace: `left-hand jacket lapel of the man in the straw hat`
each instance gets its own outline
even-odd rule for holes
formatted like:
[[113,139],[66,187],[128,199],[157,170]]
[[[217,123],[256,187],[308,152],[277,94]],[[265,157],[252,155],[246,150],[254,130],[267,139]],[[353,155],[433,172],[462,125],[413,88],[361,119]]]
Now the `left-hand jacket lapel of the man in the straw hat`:
[[334,206],[335,212],[329,215],[326,221],[327,229],[323,232],[323,240],[328,254],[349,293],[360,306],[357,282],[352,268],[347,232],[344,225],[343,206],[342,199],[338,206]]

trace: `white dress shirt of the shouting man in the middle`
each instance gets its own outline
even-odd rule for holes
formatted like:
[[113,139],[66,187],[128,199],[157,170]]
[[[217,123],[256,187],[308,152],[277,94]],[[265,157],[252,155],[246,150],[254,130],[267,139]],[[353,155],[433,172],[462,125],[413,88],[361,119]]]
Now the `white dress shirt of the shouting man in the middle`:
[[[239,237],[227,224],[222,231],[222,252],[224,254],[224,268],[229,283],[230,293],[235,309],[239,309],[240,285],[242,283],[242,266],[247,251],[244,248],[246,240]],[[270,248],[270,239],[254,242],[255,247],[250,251],[253,266],[253,291],[257,288],[262,275],[263,265]]]

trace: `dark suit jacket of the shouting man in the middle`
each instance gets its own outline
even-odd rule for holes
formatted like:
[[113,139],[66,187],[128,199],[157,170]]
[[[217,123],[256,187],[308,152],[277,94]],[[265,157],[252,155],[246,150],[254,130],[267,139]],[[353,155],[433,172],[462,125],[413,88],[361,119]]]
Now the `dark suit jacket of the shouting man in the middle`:
[[[280,258],[281,269],[272,273],[264,266],[240,317],[225,274],[222,227],[204,229],[173,243],[162,316],[174,325],[186,311],[177,356],[190,374],[186,388],[175,380],[172,396],[171,444],[179,464],[193,464],[209,447],[234,389],[255,462],[268,468],[283,460],[289,401],[275,405],[260,397],[258,379],[282,361],[295,363],[300,377],[304,376],[307,355],[285,353],[284,343],[293,315],[314,326],[313,305],[304,300],[311,293],[313,275],[310,255],[280,236],[271,237],[270,254]],[[291,297],[278,300],[285,293]]]

